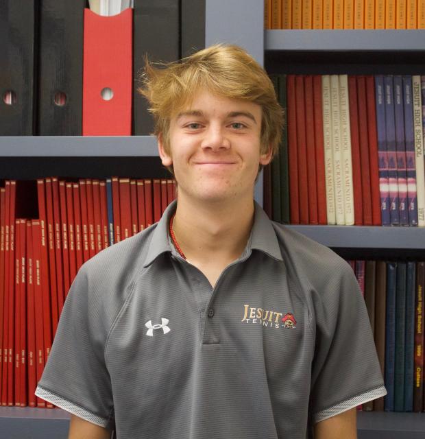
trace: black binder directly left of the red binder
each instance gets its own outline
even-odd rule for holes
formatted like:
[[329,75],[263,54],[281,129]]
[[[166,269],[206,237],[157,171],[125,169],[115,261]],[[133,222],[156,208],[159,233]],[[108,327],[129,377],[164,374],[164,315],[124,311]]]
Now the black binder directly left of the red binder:
[[82,134],[85,4],[85,0],[40,1],[37,102],[40,136]]

